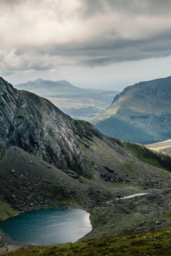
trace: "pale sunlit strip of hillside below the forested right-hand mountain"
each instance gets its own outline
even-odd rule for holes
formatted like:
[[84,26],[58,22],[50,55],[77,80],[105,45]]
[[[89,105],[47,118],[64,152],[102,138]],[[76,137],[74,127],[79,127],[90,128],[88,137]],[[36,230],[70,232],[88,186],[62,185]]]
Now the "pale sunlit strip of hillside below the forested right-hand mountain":
[[158,143],[148,144],[145,145],[145,147],[171,155],[171,140],[165,140]]

